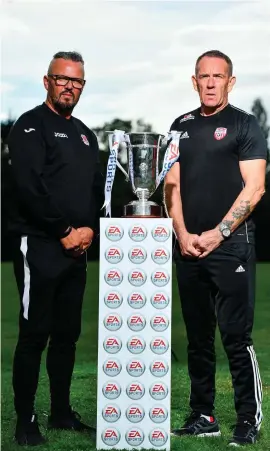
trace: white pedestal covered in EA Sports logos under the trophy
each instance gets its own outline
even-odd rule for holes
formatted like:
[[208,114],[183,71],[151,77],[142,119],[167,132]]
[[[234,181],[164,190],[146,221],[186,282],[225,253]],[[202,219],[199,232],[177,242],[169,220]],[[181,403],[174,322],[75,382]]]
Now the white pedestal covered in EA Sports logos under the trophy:
[[168,218],[100,219],[97,450],[171,450],[172,236]]

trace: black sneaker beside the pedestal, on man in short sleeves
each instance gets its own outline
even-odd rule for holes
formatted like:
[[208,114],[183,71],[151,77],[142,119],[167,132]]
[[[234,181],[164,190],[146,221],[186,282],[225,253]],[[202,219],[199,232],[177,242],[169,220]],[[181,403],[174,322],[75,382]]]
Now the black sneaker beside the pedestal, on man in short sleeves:
[[218,437],[220,434],[218,422],[213,416],[192,412],[180,429],[174,429],[172,435],[196,435],[197,437]]

